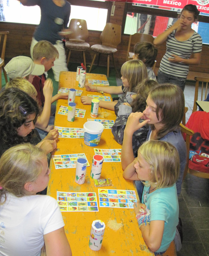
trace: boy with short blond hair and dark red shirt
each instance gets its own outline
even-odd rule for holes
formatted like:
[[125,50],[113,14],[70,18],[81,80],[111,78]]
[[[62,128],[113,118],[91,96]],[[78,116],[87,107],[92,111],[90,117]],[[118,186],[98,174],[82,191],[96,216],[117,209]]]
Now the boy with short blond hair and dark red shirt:
[[[39,41],[33,48],[33,62],[35,64],[41,64],[44,66],[44,71],[47,72],[51,67],[54,66],[55,59],[59,58],[59,52],[49,41]],[[33,78],[33,86],[36,88],[38,93],[38,100],[41,105],[44,104],[43,87],[46,81],[46,76],[43,73],[41,76],[35,76]],[[51,103],[58,99],[68,99],[67,93],[59,93],[51,98]]]

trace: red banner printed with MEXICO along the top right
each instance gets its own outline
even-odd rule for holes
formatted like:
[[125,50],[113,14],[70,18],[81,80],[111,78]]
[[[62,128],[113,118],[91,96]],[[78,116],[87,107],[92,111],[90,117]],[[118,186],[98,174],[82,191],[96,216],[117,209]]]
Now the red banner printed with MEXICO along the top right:
[[197,9],[201,13],[209,13],[209,0],[107,0],[107,1],[119,1],[137,4],[157,5],[171,8],[183,9],[185,5],[196,5]]

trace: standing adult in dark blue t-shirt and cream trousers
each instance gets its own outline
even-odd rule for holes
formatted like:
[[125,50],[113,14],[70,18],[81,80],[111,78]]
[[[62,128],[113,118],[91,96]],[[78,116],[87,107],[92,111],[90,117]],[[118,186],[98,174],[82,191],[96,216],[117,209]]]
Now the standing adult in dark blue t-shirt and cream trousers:
[[59,81],[59,72],[68,71],[66,54],[59,32],[66,31],[70,16],[70,3],[65,0],[21,0],[23,5],[39,5],[41,21],[33,34],[31,42],[31,57],[34,45],[41,40],[51,42],[59,52],[59,59],[52,67],[55,81]]

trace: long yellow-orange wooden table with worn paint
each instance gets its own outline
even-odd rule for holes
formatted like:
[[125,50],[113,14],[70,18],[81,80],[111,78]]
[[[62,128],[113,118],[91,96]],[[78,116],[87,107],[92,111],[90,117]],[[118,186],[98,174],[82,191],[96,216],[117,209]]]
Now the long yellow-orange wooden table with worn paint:
[[[86,74],[86,79],[107,80],[105,75]],[[69,87],[81,89],[76,82],[76,72],[61,72],[59,79],[59,87]],[[83,95],[97,94],[96,92],[87,92],[83,88]],[[101,95],[101,94],[100,94]],[[109,96],[109,94],[104,94]],[[58,100],[56,107],[55,125],[62,127],[78,127],[83,128],[83,124],[87,118],[91,118],[91,105],[83,105],[80,97],[76,96],[76,107],[86,109],[84,118],[75,118],[74,122],[67,121],[67,115],[57,114],[61,105],[67,106],[67,100]],[[114,111],[99,108],[97,118],[115,120]],[[98,187],[94,186],[93,179],[90,178],[91,163],[94,156],[94,147],[84,144],[84,139],[60,138],[57,143],[57,151],[54,155],[85,153],[90,164],[86,171],[86,180],[82,185],[78,185],[75,180],[75,168],[71,169],[55,169],[53,160],[50,162],[50,182],[47,194],[57,198],[57,191],[68,192],[95,192],[98,198]],[[102,149],[118,149],[121,148],[115,140],[111,129],[104,129],[101,141],[96,148]],[[127,189],[136,190],[132,181],[123,178],[123,170],[121,163],[103,162],[101,178],[111,178],[113,186],[102,187],[108,189]],[[70,243],[73,255],[154,255],[147,248],[141,231],[138,227],[135,213],[133,209],[121,208],[105,208],[99,207],[98,212],[62,212],[65,222],[65,232]],[[99,251],[92,251],[89,246],[89,235],[91,224],[94,220],[100,219],[105,222],[105,235],[102,242],[102,248]]]

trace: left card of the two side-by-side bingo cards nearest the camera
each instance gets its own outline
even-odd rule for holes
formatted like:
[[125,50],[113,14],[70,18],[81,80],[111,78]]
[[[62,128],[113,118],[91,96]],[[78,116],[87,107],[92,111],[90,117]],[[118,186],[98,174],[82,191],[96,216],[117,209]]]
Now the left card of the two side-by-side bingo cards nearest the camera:
[[57,191],[57,202],[61,212],[98,212],[96,193]]

